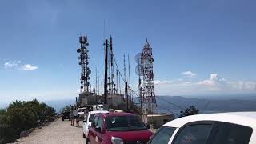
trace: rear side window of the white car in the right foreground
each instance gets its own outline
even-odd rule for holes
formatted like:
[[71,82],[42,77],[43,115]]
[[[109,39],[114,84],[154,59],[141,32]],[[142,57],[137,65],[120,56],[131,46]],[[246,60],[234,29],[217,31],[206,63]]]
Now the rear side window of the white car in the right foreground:
[[218,126],[213,144],[248,144],[252,128],[222,122]]

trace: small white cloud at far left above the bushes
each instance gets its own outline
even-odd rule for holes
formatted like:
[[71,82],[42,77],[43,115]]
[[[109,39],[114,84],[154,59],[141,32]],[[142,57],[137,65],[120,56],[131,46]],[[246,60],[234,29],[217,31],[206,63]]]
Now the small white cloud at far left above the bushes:
[[21,61],[8,61],[4,63],[5,69],[14,69],[14,70],[37,70],[38,66],[31,66],[30,64],[22,64]]

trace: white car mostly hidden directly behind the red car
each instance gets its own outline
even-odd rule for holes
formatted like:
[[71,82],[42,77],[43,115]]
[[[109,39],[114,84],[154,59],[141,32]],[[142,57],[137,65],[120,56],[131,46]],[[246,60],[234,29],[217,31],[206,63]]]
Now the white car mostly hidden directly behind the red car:
[[90,111],[86,117],[86,119],[83,121],[83,125],[82,125],[82,137],[83,138],[87,138],[88,136],[88,131],[89,128],[91,126],[91,122],[93,121],[94,115],[95,114],[102,114],[102,113],[109,113],[109,111],[107,110],[97,110],[97,111]]

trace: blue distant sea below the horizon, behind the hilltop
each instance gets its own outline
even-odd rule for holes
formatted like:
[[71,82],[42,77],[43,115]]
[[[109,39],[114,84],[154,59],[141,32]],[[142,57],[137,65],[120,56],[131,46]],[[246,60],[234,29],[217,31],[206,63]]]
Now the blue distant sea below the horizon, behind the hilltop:
[[[218,112],[237,112],[237,111],[256,111],[256,96],[159,96],[157,100],[156,112],[158,113],[170,113],[176,117],[180,114],[180,111],[188,108],[189,106],[195,106],[203,114],[218,113]],[[53,100],[45,101],[48,106],[54,107],[56,112],[59,112],[63,107],[74,105],[74,100]],[[134,102],[138,103],[138,98],[134,98]],[[0,103],[0,108],[6,108],[9,104]],[[175,106],[176,105],[176,106]]]

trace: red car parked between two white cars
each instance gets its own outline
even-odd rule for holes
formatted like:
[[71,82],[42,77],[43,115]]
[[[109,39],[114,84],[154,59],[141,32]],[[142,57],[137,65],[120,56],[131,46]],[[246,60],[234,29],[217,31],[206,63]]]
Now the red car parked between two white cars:
[[106,113],[94,116],[88,141],[90,144],[143,144],[152,135],[148,126],[135,114]]

